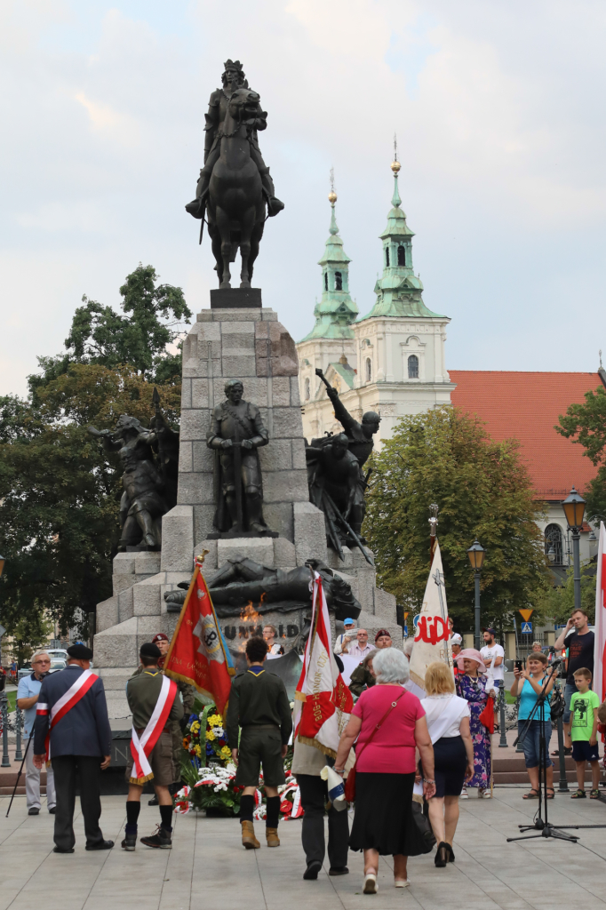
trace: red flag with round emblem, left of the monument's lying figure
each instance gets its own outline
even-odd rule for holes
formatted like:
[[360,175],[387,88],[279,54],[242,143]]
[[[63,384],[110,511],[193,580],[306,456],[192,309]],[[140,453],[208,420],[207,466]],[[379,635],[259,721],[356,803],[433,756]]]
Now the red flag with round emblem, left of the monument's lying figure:
[[164,662],[164,672],[174,680],[196,686],[199,693],[213,699],[218,713],[225,716],[231,677],[236,671],[217,622],[207,582],[200,571],[203,563],[204,554],[196,559],[187,597]]

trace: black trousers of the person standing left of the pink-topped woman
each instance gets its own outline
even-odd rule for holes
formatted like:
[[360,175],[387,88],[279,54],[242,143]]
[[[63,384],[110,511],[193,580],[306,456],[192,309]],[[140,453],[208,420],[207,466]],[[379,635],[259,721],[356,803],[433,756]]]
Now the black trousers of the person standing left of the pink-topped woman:
[[[305,811],[301,842],[307,863],[324,862],[324,805],[328,801],[328,785],[313,774],[297,774],[301,789],[301,804]],[[348,810],[328,809],[328,863],[331,869],[348,864]]]

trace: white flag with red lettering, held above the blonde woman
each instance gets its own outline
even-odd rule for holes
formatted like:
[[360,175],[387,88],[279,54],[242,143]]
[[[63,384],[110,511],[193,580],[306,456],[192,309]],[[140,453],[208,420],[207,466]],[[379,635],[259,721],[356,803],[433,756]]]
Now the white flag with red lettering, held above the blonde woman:
[[410,655],[410,679],[425,692],[425,672],[430,663],[443,661],[452,670],[450,651],[449,608],[446,602],[444,571],[439,542],[433,553],[423,606],[419,613],[415,645]]

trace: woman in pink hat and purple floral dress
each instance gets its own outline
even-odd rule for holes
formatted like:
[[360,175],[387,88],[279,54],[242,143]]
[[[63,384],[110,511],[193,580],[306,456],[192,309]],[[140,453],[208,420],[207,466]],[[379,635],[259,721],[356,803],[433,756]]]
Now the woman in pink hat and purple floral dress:
[[[467,782],[470,787],[478,787],[480,799],[490,799],[490,733],[480,721],[480,714],[486,707],[489,698],[494,698],[494,689],[486,692],[486,666],[480,652],[474,648],[461,651],[457,657],[462,674],[457,676],[457,694],[470,705],[470,733],[473,743],[473,777]],[[464,790],[461,797],[465,799]]]

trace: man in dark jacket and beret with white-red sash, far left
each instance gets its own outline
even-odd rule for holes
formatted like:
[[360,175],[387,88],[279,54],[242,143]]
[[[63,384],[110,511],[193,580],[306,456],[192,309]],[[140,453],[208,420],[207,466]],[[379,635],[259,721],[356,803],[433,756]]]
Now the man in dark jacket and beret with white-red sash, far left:
[[34,730],[34,763],[42,768],[47,754],[56,787],[55,853],[74,853],[76,774],[85,820],[86,850],[111,850],[99,827],[100,774],[111,759],[112,733],[103,682],[90,671],[93,652],[84,644],[67,649],[67,666],[45,678],[38,696]]

